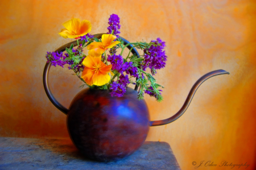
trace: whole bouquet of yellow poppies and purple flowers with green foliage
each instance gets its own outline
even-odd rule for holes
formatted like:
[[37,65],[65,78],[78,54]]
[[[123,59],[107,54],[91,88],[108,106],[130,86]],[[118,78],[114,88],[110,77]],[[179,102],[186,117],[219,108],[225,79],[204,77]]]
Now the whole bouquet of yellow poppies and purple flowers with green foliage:
[[[144,94],[154,96],[157,101],[162,101],[163,86],[156,83],[153,77],[157,69],[164,68],[167,56],[164,51],[165,42],[160,38],[151,42],[136,42],[125,44],[119,37],[120,24],[118,15],[112,14],[109,18],[108,32],[100,39],[90,35],[92,25],[88,20],[71,19],[63,24],[59,35],[63,38],[77,39],[77,48],[66,48],[63,52],[47,52],[47,62],[53,66],[68,64],[76,76],[90,89],[109,89],[110,95],[122,97],[129,84],[139,87],[138,99],[143,99]],[[79,39],[82,43],[79,44]],[[123,56],[124,49],[133,45],[127,56]],[[89,50],[88,55],[83,49]],[[117,49],[121,53],[117,53]],[[133,48],[141,49],[143,55],[131,53]],[[109,54],[107,55],[107,53]],[[149,68],[151,73],[147,73]],[[134,77],[134,78],[133,78]],[[82,85],[82,86],[84,86]]]

